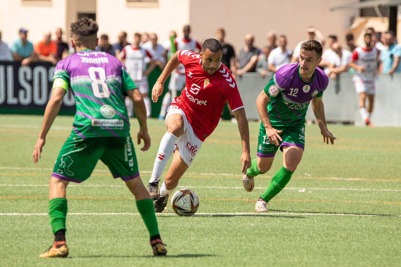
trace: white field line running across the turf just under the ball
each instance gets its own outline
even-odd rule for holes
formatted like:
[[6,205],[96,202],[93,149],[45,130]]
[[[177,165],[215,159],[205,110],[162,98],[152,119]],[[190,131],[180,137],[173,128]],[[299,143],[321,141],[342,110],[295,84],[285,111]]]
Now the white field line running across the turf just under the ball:
[[[49,215],[49,213],[0,213],[0,216],[30,216]],[[67,215],[140,215],[140,213],[67,213]],[[160,213],[159,215],[175,215],[175,213]],[[328,215],[328,216],[367,216],[367,217],[401,217],[401,215],[380,215],[380,214],[354,214],[354,213],[292,213],[292,212],[235,212],[235,213],[196,213],[197,215]]]

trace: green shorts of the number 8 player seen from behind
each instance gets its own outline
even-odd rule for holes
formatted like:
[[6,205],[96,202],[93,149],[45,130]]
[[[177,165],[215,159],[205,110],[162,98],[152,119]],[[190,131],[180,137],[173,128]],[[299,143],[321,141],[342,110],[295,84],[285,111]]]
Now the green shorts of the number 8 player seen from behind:
[[131,137],[69,137],[57,157],[52,176],[81,183],[91,176],[99,159],[109,167],[114,178],[128,181],[139,176]]

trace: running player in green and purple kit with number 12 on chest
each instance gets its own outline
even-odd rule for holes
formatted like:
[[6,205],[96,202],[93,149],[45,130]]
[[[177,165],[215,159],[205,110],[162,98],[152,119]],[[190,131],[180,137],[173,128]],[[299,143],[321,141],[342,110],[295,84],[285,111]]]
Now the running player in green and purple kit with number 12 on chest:
[[245,190],[251,192],[255,185],[253,177],[269,171],[278,148],[283,152],[283,166],[257,200],[255,211],[267,211],[267,203],[287,185],[302,159],[305,114],[310,100],[323,142],[328,144],[330,139],[330,143],[334,144],[336,138],[327,129],[322,102],[328,78],[316,68],[322,60],[322,50],[317,41],[303,42],[299,63],[279,68],[256,100],[262,122],[257,159],[252,160],[252,166],[242,180]]

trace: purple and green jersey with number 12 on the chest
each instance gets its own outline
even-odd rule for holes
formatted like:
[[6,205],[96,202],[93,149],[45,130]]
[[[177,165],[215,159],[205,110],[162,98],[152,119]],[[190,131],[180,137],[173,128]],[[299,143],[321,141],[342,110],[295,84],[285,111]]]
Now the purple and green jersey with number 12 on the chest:
[[299,63],[282,66],[264,88],[270,100],[267,103],[269,120],[273,126],[291,126],[305,123],[309,102],[315,96],[323,96],[328,78],[323,70],[316,68],[312,82],[304,82]]

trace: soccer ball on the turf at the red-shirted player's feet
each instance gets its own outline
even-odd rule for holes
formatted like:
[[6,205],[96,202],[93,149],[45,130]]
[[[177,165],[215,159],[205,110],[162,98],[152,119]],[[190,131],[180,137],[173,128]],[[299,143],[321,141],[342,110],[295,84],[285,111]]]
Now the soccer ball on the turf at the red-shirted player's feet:
[[177,215],[194,215],[199,207],[198,195],[190,189],[180,189],[174,193],[171,199],[171,207]]

